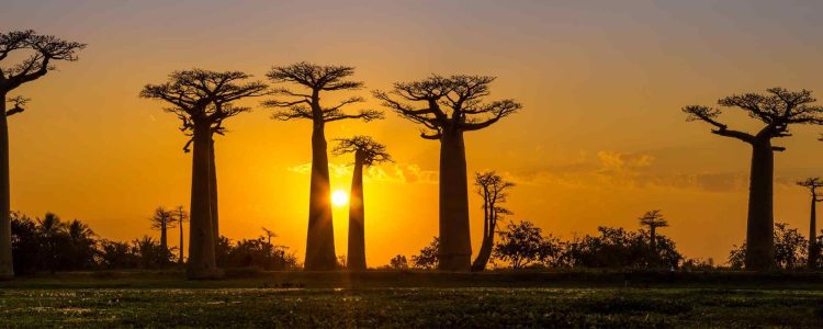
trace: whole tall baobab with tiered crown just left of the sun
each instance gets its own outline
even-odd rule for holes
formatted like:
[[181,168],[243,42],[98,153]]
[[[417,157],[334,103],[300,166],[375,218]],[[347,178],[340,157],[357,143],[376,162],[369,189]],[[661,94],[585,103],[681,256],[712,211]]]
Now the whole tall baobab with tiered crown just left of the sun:
[[288,88],[274,90],[288,100],[270,100],[267,106],[283,109],[275,112],[272,118],[279,121],[312,121],[312,178],[308,198],[308,232],[306,238],[306,270],[334,270],[337,265],[335,256],[335,232],[331,218],[330,182],[328,172],[328,154],[325,127],[327,123],[341,120],[362,120],[365,122],[383,118],[382,112],[360,110],[349,114],[343,111],[347,105],[361,103],[360,97],[350,97],[334,106],[324,106],[320,94],[331,91],[358,90],[363,82],[349,78],[354,73],[353,67],[320,66],[297,63],[289,66],[273,67],[267,77],[274,83],[296,84],[305,91]]

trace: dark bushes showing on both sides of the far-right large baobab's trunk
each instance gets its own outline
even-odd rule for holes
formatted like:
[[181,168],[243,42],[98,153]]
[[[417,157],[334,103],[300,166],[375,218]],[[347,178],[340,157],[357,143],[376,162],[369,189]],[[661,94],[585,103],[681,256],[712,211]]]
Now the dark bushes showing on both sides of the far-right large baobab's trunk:
[[[781,270],[797,270],[807,263],[809,240],[800,235],[797,228],[789,228],[786,223],[775,223],[775,265]],[[745,269],[746,242],[734,246],[729,252],[729,265],[733,269]]]

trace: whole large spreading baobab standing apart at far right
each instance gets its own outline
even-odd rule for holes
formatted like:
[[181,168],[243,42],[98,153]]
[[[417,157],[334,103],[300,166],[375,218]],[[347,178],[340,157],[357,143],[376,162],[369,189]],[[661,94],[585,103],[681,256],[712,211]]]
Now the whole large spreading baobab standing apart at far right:
[[718,121],[723,113],[719,107],[689,105],[683,107],[687,121],[702,121],[711,126],[712,134],[742,140],[752,147],[752,168],[748,186],[748,216],[746,223],[747,270],[766,270],[775,265],[773,231],[775,227],[773,188],[775,151],[785,147],[773,146],[771,139],[791,136],[789,125],[823,124],[823,107],[809,90],[788,91],[770,88],[765,94],[744,93],[718,100],[726,109],[740,109],[748,116],[765,124],[755,134],[730,129]]

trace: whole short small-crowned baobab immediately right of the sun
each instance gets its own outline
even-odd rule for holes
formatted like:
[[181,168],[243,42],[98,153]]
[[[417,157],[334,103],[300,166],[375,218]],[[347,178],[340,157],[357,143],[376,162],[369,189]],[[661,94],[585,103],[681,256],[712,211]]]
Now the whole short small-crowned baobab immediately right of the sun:
[[349,194],[349,250],[348,269],[364,271],[365,266],[365,207],[363,204],[363,168],[380,162],[392,161],[385,145],[369,136],[354,136],[338,139],[335,155],[354,154],[354,169],[351,175]]

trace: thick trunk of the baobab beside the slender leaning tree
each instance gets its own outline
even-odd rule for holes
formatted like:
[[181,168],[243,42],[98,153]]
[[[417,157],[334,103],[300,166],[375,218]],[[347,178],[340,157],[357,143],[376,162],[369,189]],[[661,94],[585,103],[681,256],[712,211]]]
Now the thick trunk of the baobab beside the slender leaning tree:
[[440,138],[439,270],[469,271],[472,241],[469,232],[469,182],[463,132],[446,129]]

